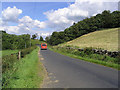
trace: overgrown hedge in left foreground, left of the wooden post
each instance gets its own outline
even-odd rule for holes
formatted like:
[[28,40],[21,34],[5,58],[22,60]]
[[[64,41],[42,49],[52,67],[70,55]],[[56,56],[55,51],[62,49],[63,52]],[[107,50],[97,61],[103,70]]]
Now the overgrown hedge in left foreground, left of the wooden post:
[[9,83],[9,78],[17,69],[14,64],[18,62],[16,54],[2,57],[2,86],[5,87]]

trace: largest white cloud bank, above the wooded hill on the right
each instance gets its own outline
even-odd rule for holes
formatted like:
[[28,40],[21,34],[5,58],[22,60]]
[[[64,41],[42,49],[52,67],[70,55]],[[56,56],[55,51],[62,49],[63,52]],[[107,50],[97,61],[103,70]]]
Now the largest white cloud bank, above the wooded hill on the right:
[[86,17],[94,16],[104,10],[117,10],[117,3],[105,2],[105,0],[76,0],[74,4],[58,10],[50,10],[44,14],[47,16],[48,27],[55,31],[64,30],[74,22]]

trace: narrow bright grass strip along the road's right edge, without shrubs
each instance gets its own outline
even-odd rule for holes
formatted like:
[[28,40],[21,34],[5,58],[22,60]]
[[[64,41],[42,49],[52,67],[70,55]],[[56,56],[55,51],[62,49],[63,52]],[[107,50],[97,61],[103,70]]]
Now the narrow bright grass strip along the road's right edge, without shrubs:
[[120,65],[119,64],[100,61],[100,60],[95,60],[95,59],[92,59],[92,58],[89,58],[89,57],[78,56],[78,55],[75,55],[75,54],[72,54],[72,53],[68,53],[68,52],[65,52],[65,51],[62,51],[62,50],[58,50],[56,48],[52,48],[50,46],[49,46],[49,49],[54,51],[54,52],[57,52],[57,53],[60,53],[62,55],[66,55],[66,56],[69,56],[69,57],[72,57],[72,58],[76,58],[76,59],[80,59],[80,60],[84,60],[84,61],[88,61],[88,62],[91,62],[91,63],[100,64],[100,65],[104,65],[104,66],[107,66],[107,67],[111,67],[111,68],[120,70]]

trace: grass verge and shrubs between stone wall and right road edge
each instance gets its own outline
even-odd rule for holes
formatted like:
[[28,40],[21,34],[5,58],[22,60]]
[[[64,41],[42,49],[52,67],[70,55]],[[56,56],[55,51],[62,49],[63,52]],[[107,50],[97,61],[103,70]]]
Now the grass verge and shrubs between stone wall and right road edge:
[[76,59],[80,59],[80,60],[84,60],[84,61],[88,61],[88,62],[92,62],[92,63],[96,63],[96,64],[100,64],[100,65],[104,65],[104,66],[108,66],[108,67],[112,67],[117,70],[118,69],[120,70],[119,56],[114,58],[107,55],[94,54],[91,51],[91,48],[86,48],[84,49],[84,51],[81,51],[81,52],[78,50],[66,49],[66,47],[59,48],[59,46],[54,46],[54,47],[49,46],[49,49],[54,52],[57,52],[72,58],[76,58]]

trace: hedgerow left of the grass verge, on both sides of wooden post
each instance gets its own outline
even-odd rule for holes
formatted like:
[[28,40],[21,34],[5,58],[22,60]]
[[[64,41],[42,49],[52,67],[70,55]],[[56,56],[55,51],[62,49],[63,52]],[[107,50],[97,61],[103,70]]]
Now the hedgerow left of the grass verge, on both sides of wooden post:
[[[21,50],[21,58],[32,52],[36,47],[30,47]],[[17,64],[17,66],[16,66]],[[2,86],[6,87],[9,84],[10,78],[16,72],[19,64],[18,53],[2,56]]]

